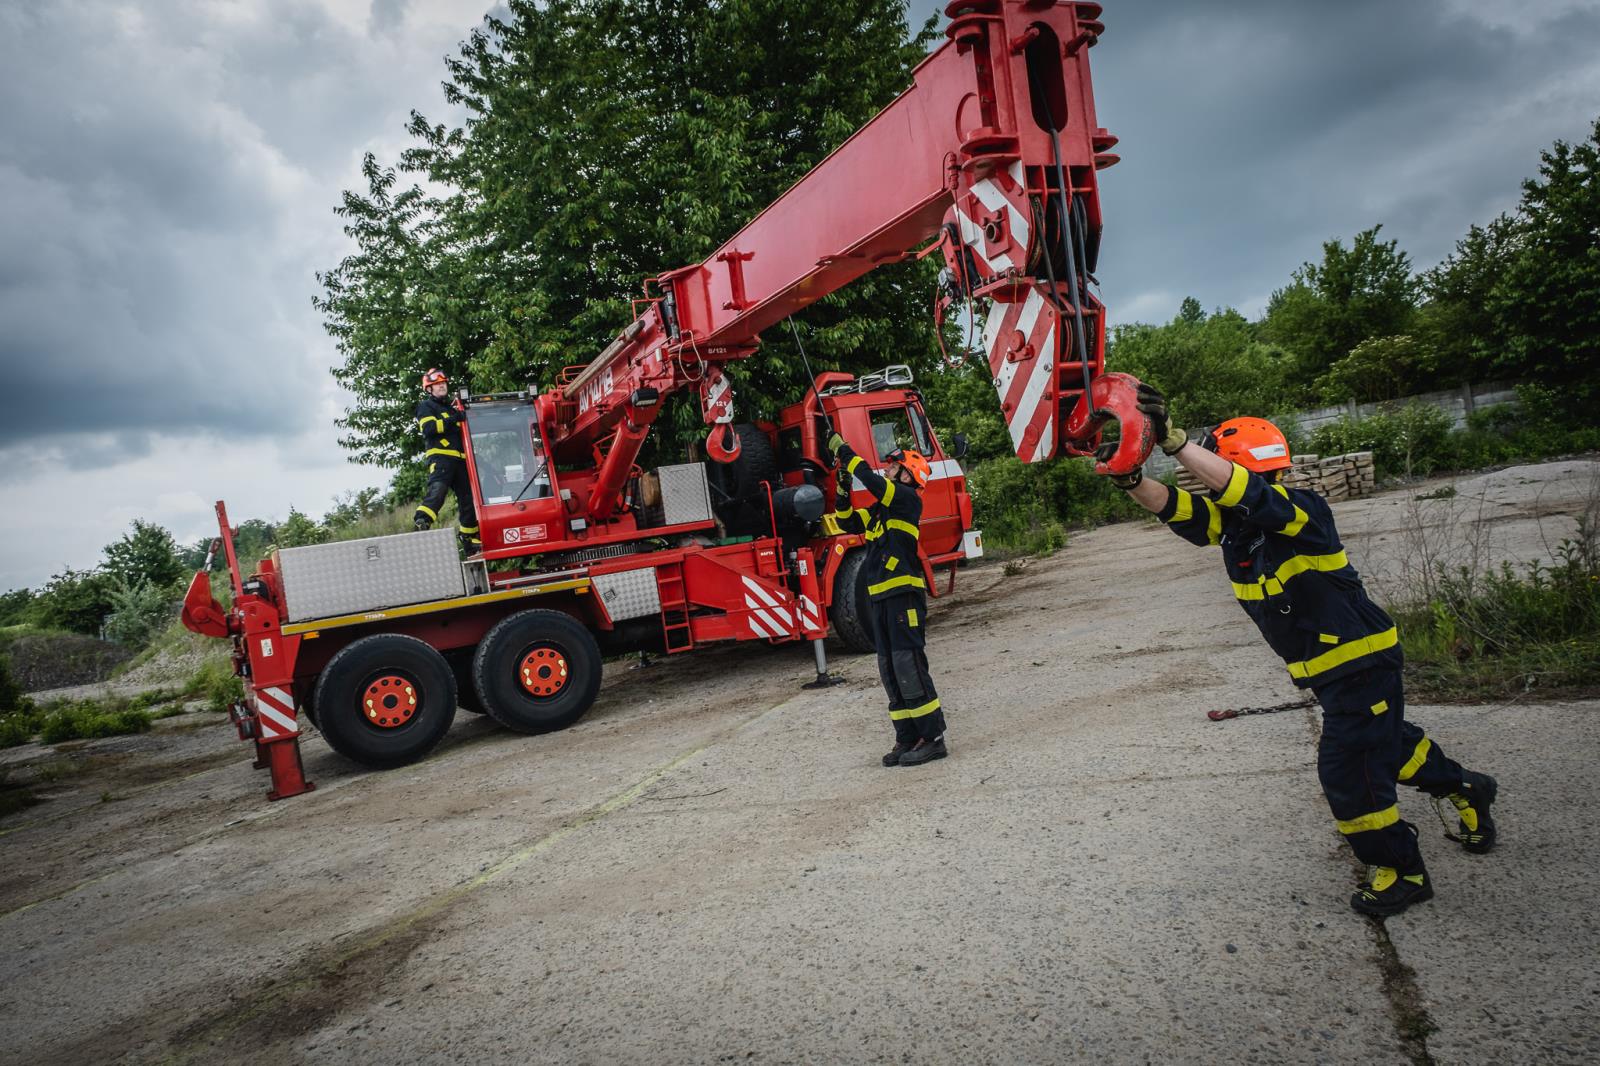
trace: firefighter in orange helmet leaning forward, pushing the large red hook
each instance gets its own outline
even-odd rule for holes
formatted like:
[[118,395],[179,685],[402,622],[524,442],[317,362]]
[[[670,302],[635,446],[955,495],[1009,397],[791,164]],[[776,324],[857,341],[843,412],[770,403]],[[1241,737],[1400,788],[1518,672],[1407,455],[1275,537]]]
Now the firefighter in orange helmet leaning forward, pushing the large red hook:
[[[1371,868],[1350,896],[1362,914],[1389,916],[1434,896],[1416,828],[1400,818],[1397,784],[1445,797],[1469,852],[1494,845],[1496,783],[1462,770],[1437,741],[1405,720],[1395,623],[1362,587],[1317,493],[1278,483],[1291,466],[1288,440],[1264,418],[1234,418],[1200,445],[1171,424],[1166,400],[1139,386],[1139,410],[1162,450],[1210,493],[1112,477],[1173,533],[1219,544],[1238,605],[1288,663],[1299,688],[1322,704],[1317,776],[1339,832]],[[1115,445],[1110,445],[1115,447]]]

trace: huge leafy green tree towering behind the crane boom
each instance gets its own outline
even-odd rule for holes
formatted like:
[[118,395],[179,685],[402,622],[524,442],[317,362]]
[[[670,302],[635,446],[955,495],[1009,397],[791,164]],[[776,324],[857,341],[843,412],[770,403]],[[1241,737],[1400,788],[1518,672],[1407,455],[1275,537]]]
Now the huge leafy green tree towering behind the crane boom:
[[[512,0],[446,61],[466,122],[414,114],[413,146],[368,157],[338,208],[357,250],[317,306],[355,395],[341,443],[416,456],[427,367],[496,389],[592,359],[643,279],[707,256],[904,90],[931,40],[899,0]],[[931,269],[885,267],[806,312],[818,362],[926,365]],[[738,371],[742,415],[794,399],[797,362],[774,331]],[[664,421],[698,415],[680,397]]]

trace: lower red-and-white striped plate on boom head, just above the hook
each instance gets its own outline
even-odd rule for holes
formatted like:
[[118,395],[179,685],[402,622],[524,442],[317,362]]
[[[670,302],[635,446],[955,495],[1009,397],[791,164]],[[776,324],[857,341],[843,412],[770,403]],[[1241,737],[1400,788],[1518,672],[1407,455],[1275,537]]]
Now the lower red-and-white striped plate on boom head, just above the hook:
[[995,303],[984,325],[984,351],[1000,411],[1011,432],[1011,447],[1024,463],[1046,459],[1056,448],[1051,423],[1059,325],[1056,309],[1035,288],[1027,290],[1022,303]]

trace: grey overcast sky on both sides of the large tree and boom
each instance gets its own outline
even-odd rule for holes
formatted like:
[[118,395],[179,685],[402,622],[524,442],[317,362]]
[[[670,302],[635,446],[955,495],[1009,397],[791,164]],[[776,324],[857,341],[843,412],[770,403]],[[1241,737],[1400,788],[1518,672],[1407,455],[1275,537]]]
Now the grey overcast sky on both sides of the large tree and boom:
[[[485,0],[0,0],[0,589],[387,482],[334,443],[333,214]],[[1600,114],[1600,5],[1107,0],[1091,53],[1112,320],[1259,314],[1384,222],[1419,266]],[[925,14],[942,5],[917,0]]]

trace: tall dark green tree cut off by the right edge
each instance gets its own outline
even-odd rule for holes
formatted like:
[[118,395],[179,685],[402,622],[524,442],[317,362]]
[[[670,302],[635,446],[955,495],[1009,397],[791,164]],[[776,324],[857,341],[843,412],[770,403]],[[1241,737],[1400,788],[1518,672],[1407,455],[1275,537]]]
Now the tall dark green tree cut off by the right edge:
[[[1515,254],[1486,296],[1496,367],[1571,389],[1595,419],[1600,397],[1600,118],[1557,141],[1522,184]],[[1493,351],[1493,349],[1491,349]]]

